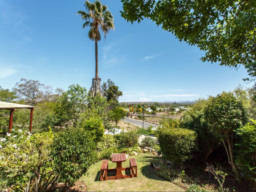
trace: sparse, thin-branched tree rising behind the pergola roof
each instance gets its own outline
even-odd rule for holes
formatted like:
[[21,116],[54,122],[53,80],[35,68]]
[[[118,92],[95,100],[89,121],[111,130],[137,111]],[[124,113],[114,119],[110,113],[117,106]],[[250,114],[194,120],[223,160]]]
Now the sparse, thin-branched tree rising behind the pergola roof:
[[39,81],[20,79],[20,82],[15,84],[13,89],[16,92],[19,99],[25,100],[27,104],[35,105],[40,102],[42,97],[41,88],[44,84],[41,84]]

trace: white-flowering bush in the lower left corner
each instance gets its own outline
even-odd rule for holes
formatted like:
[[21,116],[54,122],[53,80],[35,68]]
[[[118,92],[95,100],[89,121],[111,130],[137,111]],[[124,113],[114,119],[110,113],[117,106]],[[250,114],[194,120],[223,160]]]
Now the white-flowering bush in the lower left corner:
[[12,129],[6,137],[1,137],[0,175],[6,178],[5,184],[14,191],[25,191],[29,187],[39,190],[39,182],[51,172],[49,145],[52,139],[51,131],[31,135],[20,129]]

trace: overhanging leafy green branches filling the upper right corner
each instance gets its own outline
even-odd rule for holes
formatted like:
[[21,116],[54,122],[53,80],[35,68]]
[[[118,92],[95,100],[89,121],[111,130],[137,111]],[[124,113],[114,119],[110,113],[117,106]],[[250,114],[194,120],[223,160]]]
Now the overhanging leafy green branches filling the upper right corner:
[[256,61],[254,0],[121,0],[129,22],[150,18],[180,41],[206,51],[202,61],[250,65]]

